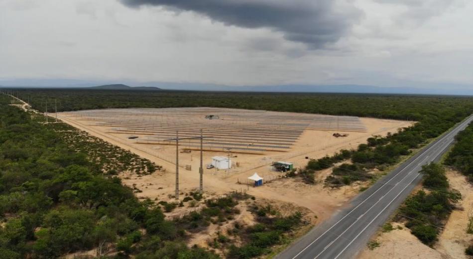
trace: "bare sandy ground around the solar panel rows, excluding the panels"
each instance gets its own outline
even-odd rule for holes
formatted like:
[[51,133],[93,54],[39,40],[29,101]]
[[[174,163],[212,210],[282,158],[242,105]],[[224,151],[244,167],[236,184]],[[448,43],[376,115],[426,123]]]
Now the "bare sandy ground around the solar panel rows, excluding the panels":
[[[123,173],[120,177],[123,183],[134,186],[141,192],[137,193],[140,198],[150,198],[152,200],[170,199],[175,189],[175,164],[170,159],[158,157],[165,155],[174,157],[175,147],[160,147],[150,145],[134,144],[125,135],[114,135],[107,133],[105,127],[95,127],[76,120],[75,117],[66,113],[59,113],[58,118],[76,128],[85,130],[90,134],[109,141],[119,147],[130,150],[144,158],[147,158],[158,165],[162,165],[164,171],[151,175],[136,175]],[[372,135],[384,136],[388,132],[396,132],[397,129],[408,127],[412,122],[379,120],[371,118],[360,118],[360,122],[366,128],[365,132],[344,132],[333,130],[305,130],[299,139],[294,143],[288,152],[266,152],[263,154],[233,154],[233,164],[238,163],[239,167],[231,170],[204,169],[204,190],[217,194],[225,194],[229,191],[242,191],[258,198],[279,200],[293,203],[296,206],[305,207],[314,212],[319,219],[329,217],[337,207],[342,206],[347,200],[358,193],[360,186],[348,186],[339,189],[331,189],[323,186],[323,179],[330,171],[322,172],[318,175],[319,183],[313,186],[306,185],[297,179],[282,179],[274,182],[266,182],[258,188],[248,185],[237,184],[237,181],[246,179],[257,172],[263,178],[276,176],[280,173],[274,172],[270,168],[273,161],[290,161],[295,167],[305,166],[308,162],[306,157],[320,158],[325,155],[332,155],[341,149],[350,149],[364,143]],[[336,138],[334,132],[348,133],[347,137]],[[184,144],[184,143],[183,143]],[[185,145],[185,144],[184,144]],[[185,148],[185,146],[183,146]],[[204,163],[209,163],[210,158],[215,155],[226,155],[225,152],[205,151]],[[180,164],[191,164],[192,170],[188,171],[180,168],[180,190],[181,193],[193,191],[199,183],[199,156],[198,152],[180,153]],[[192,160],[192,161],[191,161]],[[317,202],[315,202],[317,201]]]

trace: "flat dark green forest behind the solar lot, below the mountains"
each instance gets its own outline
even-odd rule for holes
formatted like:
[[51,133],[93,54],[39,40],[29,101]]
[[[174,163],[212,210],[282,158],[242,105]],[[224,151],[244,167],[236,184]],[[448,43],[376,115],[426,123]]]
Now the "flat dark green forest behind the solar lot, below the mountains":
[[320,113],[397,120],[455,120],[473,111],[473,98],[315,93],[229,93],[112,91],[90,89],[4,89],[44,112],[105,108],[223,107],[277,112]]

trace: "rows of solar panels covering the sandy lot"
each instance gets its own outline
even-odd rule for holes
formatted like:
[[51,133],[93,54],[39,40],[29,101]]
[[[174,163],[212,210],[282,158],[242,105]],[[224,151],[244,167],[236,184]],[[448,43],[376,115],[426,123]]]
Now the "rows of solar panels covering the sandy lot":
[[[200,136],[204,148],[232,152],[288,151],[305,130],[366,131],[359,118],[223,108],[106,109],[66,113],[82,124],[105,127],[108,133],[138,135],[135,143],[169,145],[179,137]],[[218,116],[217,120],[206,119]],[[130,140],[131,141],[131,140]],[[182,141],[200,147],[200,139]]]

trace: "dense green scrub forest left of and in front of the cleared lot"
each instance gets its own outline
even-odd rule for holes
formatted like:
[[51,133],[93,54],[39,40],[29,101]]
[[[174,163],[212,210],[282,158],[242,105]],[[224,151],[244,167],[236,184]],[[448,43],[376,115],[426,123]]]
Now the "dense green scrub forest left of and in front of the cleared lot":
[[[157,166],[137,163],[136,157],[117,150],[125,156],[120,162],[133,161],[138,168],[110,168],[106,159],[91,157],[84,144],[74,144],[74,139],[67,143],[61,135],[64,128],[44,124],[42,116],[10,106],[10,101],[0,96],[0,258],[53,259],[92,250],[100,258],[216,259],[220,256],[188,248],[186,241],[212,224],[232,220],[240,213],[240,201],[254,202],[254,197],[239,193],[208,200],[198,193],[186,194],[181,204],[139,201],[110,170],[152,173]],[[201,201],[204,208],[166,219],[163,209],[191,207],[192,201]],[[236,222],[213,244],[223,247],[228,258],[270,253],[302,224],[298,212],[284,217],[256,204],[250,210],[255,226]],[[236,239],[238,245],[233,244]]]

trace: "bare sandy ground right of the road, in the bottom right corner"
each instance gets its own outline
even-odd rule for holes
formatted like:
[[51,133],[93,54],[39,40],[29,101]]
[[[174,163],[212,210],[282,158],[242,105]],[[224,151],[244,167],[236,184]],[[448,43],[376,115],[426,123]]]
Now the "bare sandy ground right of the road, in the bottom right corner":
[[[380,247],[364,249],[358,259],[468,259],[465,249],[473,244],[473,235],[467,234],[466,227],[468,215],[473,213],[473,188],[458,172],[449,170],[447,176],[451,187],[459,190],[463,198],[457,204],[458,209],[450,215],[434,248],[422,244],[402,224],[393,223],[393,231],[373,238],[380,243]],[[396,229],[397,226],[401,226],[402,230]]]

